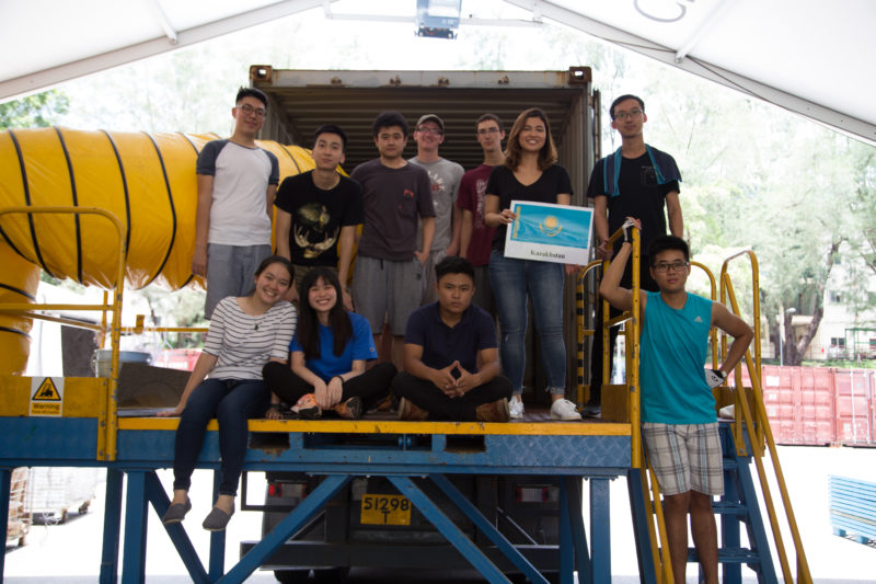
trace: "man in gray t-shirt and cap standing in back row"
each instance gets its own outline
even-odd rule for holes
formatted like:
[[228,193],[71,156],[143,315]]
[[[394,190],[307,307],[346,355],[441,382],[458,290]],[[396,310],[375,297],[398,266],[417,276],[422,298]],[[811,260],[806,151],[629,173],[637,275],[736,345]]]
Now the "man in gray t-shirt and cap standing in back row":
[[[435,238],[423,273],[423,304],[426,305],[436,300],[435,265],[448,255],[459,254],[462,210],[457,207],[457,195],[464,171],[456,162],[438,156],[438,147],[445,141],[445,124],[437,115],[426,114],[417,121],[414,140],[417,142],[417,156],[408,162],[423,167],[429,173],[435,207]],[[417,249],[423,250],[419,231]]]

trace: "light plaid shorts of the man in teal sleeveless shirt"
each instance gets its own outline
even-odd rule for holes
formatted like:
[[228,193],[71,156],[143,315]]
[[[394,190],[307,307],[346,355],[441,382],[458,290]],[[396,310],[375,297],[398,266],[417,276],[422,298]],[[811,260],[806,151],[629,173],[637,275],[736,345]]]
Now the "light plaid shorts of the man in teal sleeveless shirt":
[[665,495],[724,494],[718,424],[642,424],[648,460]]

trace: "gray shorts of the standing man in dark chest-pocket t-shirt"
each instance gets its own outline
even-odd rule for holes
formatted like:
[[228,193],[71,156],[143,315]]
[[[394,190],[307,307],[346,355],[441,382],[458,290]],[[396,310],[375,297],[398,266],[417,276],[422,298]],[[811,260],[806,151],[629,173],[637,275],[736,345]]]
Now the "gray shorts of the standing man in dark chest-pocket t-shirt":
[[407,318],[419,308],[423,297],[423,265],[416,257],[405,261],[356,259],[353,302],[368,319],[371,333],[380,334],[389,320],[395,336],[403,336]]

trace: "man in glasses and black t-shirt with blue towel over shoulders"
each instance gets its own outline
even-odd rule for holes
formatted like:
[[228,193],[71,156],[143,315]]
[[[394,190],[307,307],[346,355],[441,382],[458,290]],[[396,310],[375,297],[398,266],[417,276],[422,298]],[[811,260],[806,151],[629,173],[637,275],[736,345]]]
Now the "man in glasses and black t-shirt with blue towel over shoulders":
[[[609,236],[620,229],[627,217],[642,222],[642,261],[639,287],[657,291],[657,285],[648,271],[648,245],[657,236],[665,236],[667,216],[669,231],[683,238],[684,224],[679,203],[681,173],[675,159],[647,144],[643,134],[645,102],[636,95],[621,95],[609,108],[611,127],[621,135],[621,147],[601,159],[593,167],[587,196],[593,197],[593,231],[599,243],[597,256],[611,259],[615,250],[606,243]],[[664,214],[666,209],[666,215]],[[615,248],[620,248],[618,242]],[[624,288],[633,287],[632,262],[627,264],[621,279]],[[590,354],[590,399],[584,415],[596,416],[600,412],[602,385],[602,301],[597,302],[596,334]],[[613,316],[613,314],[612,314]],[[614,353],[618,329],[611,329],[609,370]]]

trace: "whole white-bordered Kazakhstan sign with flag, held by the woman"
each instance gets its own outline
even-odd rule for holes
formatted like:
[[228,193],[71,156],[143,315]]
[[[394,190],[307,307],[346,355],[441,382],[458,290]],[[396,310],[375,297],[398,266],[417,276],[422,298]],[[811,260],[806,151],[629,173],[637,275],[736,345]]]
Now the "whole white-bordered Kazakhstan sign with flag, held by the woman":
[[511,201],[511,210],[517,218],[506,233],[506,257],[581,265],[589,261],[593,209]]

